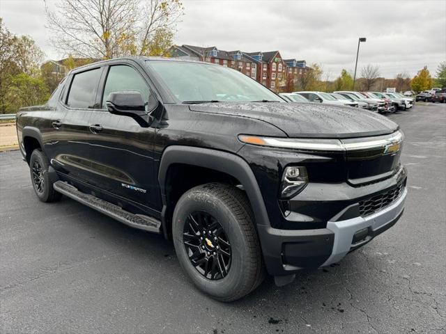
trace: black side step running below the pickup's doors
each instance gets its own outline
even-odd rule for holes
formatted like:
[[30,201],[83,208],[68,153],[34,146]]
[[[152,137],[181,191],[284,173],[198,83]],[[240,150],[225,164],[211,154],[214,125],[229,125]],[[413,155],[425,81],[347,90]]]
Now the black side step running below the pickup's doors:
[[75,186],[72,186],[67,182],[54,182],[53,187],[55,191],[58,191],[59,193],[72,198],[73,200],[77,200],[77,202],[81,202],[82,204],[116,219],[116,221],[129,225],[132,228],[161,233],[161,222],[155,218],[144,216],[143,214],[131,214],[130,212],[121,209],[121,207],[118,207],[118,205],[114,205],[106,200],[101,200],[95,196],[82,193],[82,191],[77,190]]

